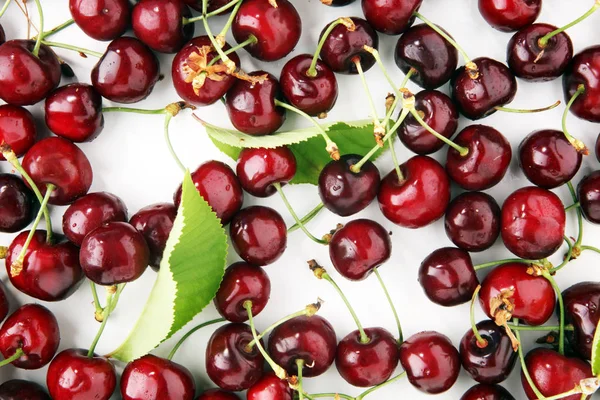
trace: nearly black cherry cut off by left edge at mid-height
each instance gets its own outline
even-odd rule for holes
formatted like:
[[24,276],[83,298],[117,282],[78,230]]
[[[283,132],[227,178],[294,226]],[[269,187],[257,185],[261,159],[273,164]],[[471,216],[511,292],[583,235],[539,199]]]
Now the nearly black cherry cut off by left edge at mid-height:
[[0,232],[25,229],[35,218],[37,199],[21,178],[0,174]]

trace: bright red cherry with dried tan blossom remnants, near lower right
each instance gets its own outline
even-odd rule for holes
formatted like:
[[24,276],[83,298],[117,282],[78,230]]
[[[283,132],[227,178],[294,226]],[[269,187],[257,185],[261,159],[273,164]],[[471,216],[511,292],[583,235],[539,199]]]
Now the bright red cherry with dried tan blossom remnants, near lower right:
[[542,325],[548,321],[556,305],[550,282],[543,276],[529,275],[527,265],[521,263],[502,264],[481,283],[479,303],[488,317],[494,319],[490,303],[502,295],[514,305],[513,317],[529,325]]

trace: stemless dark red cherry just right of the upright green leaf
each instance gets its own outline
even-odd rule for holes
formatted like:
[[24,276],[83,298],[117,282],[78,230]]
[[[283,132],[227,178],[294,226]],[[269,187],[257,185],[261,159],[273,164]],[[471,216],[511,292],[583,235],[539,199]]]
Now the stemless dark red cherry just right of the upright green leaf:
[[287,247],[287,229],[281,215],[269,207],[252,206],[238,212],[229,226],[236,253],[250,264],[272,264]]

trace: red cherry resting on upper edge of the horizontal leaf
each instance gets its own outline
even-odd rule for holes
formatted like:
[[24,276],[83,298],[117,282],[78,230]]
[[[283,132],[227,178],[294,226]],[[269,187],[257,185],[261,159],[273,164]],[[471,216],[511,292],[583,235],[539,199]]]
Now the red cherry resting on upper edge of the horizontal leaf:
[[264,71],[254,71],[249,75],[264,75],[266,79],[262,83],[241,79],[235,82],[225,97],[229,119],[240,132],[253,136],[270,135],[285,121],[285,109],[275,105],[275,99],[280,97],[279,82]]

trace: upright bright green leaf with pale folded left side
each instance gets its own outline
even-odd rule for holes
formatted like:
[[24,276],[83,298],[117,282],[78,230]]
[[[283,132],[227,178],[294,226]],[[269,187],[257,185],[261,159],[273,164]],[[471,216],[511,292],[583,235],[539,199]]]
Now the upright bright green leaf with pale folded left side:
[[183,328],[215,297],[227,257],[221,222],[185,174],[156,282],[129,337],[111,356],[129,362]]

